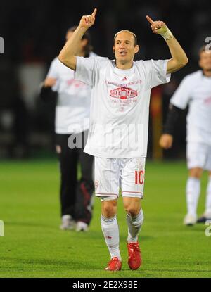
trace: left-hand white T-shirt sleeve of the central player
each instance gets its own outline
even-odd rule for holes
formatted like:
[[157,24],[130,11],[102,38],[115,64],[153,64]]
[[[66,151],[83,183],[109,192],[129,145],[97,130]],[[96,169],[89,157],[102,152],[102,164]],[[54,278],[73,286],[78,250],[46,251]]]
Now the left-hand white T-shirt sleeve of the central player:
[[92,87],[94,85],[94,71],[96,68],[95,59],[94,57],[77,57],[75,79]]

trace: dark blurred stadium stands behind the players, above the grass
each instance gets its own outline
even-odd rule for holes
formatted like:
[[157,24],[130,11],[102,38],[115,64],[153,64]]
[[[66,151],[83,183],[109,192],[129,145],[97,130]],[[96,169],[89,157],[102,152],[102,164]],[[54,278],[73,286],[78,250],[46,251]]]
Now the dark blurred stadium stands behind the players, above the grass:
[[[197,70],[198,48],[210,34],[211,4],[208,0],[177,1],[5,1],[0,3],[0,158],[27,158],[53,153],[53,102],[44,104],[39,84],[49,64],[58,55],[68,27],[81,15],[98,7],[91,27],[94,51],[113,58],[113,35],[127,27],[136,33],[141,46],[136,58],[169,58],[165,42],[151,33],[146,14],[164,20],[184,47],[189,63],[155,92],[151,102],[148,156],[160,158],[157,140],[172,93],[184,75]],[[179,120],[174,147],[166,158],[185,157],[186,113]],[[157,126],[156,126],[157,125]]]

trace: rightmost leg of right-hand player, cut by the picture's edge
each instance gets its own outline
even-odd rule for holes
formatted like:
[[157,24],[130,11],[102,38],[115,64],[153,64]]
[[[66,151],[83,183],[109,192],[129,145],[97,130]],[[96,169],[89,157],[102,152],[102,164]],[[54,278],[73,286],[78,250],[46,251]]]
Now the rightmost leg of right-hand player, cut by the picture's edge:
[[211,147],[207,146],[207,160],[205,170],[208,170],[208,182],[206,190],[205,212],[198,218],[198,223],[205,223],[211,219]]

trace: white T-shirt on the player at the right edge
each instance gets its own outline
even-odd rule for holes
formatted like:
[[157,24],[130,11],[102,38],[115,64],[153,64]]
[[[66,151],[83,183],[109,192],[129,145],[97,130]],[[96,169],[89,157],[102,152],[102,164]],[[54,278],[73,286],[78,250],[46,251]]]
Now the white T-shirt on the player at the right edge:
[[198,70],[184,77],[170,103],[177,108],[188,108],[187,141],[211,146],[211,77]]

